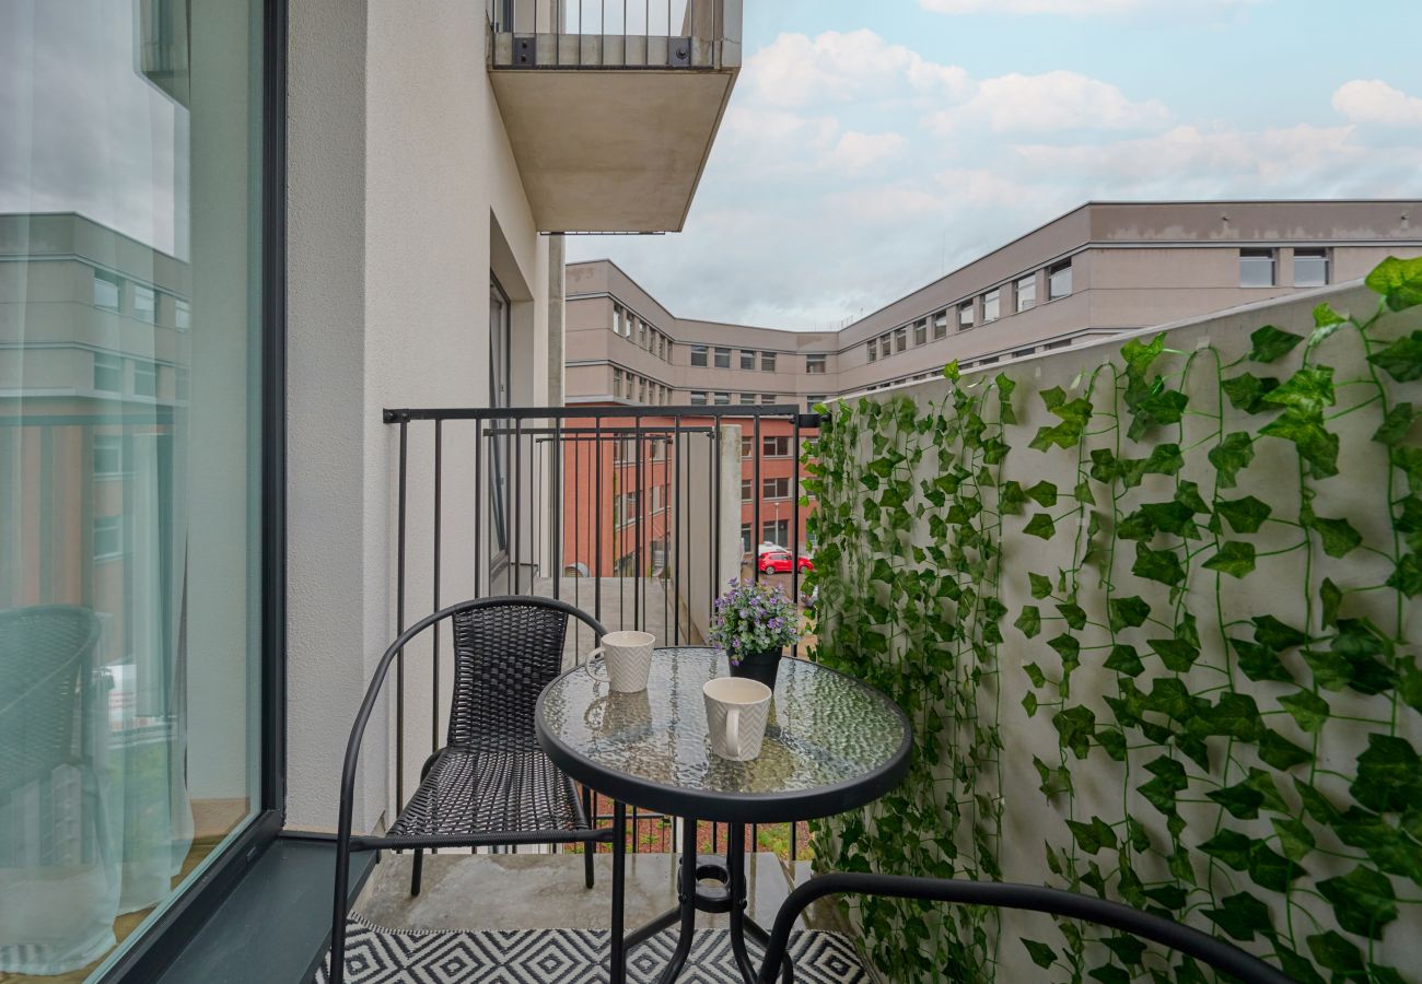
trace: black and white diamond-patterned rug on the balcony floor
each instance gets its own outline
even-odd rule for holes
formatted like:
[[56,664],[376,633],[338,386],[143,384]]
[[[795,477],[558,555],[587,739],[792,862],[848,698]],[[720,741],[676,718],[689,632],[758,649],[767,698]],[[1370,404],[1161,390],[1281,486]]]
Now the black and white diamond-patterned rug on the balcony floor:
[[[651,984],[675,937],[647,940],[627,958],[629,984]],[[796,984],[869,984],[855,944],[839,933],[791,936]],[[752,960],[759,950],[752,946]],[[607,930],[387,930],[351,920],[347,984],[606,984]],[[314,984],[326,984],[327,968]],[[725,930],[697,930],[678,984],[732,984],[741,975]]]

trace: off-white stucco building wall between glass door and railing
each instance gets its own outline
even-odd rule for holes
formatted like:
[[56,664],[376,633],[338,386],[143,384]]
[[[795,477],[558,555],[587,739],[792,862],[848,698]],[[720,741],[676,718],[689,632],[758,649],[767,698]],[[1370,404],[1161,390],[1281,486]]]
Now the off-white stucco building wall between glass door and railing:
[[[545,402],[550,287],[485,70],[483,6],[293,0],[290,17],[287,812],[331,829],[346,737],[395,634],[397,429],[380,411],[488,404],[491,269],[513,303],[515,398]],[[431,428],[410,435],[424,464],[408,495],[427,502]],[[447,483],[471,481],[468,456],[447,462]],[[449,512],[447,542],[472,525]],[[422,513],[408,538],[412,621],[432,604]],[[472,593],[459,560],[445,601]],[[405,663],[407,707],[422,712],[428,647]],[[365,738],[358,828],[392,802],[385,710]],[[407,792],[429,751],[428,718],[414,721]]]

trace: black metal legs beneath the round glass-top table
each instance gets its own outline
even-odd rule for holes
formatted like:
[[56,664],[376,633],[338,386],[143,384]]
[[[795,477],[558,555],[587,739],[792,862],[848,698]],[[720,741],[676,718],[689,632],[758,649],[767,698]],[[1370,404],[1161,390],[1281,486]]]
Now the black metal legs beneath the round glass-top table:
[[[741,971],[745,984],[755,984],[758,980],[751,956],[745,950],[745,937],[749,936],[761,947],[769,941],[769,934],[745,914],[747,907],[747,879],[745,879],[745,825],[731,823],[727,836],[725,857],[697,855],[697,822],[681,820],[681,870],[677,877],[677,907],[664,911],[646,926],[627,934],[623,944],[626,954],[638,943],[646,943],[657,933],[661,933],[677,923],[681,924],[677,937],[677,948],[671,954],[671,961],[661,971],[657,984],[673,984],[687,964],[691,954],[693,931],[697,927],[697,913],[728,913],[731,921],[731,953]],[[707,884],[710,882],[710,884]],[[792,984],[795,967],[789,957],[781,967],[782,984]]]

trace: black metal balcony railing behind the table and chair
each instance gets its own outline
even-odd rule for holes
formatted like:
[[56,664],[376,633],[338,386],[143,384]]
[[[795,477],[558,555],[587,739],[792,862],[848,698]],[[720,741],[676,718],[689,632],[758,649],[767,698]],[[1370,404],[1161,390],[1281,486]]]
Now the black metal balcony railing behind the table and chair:
[[[732,577],[774,577],[801,596],[801,454],[819,418],[798,407],[387,410],[384,419],[395,428],[397,631],[464,597],[539,594],[584,609],[609,630],[700,646]],[[791,557],[784,573],[762,570],[771,538],[784,547],[776,556]],[[447,663],[448,641],[431,630]],[[569,664],[593,646],[574,623]],[[444,744],[441,658],[411,660],[408,671],[404,654],[395,663],[400,805],[418,785],[407,758],[418,764]],[[611,822],[609,801],[599,798],[594,812]],[[629,850],[673,850],[671,818],[633,808],[629,819]],[[700,846],[720,852],[724,826],[702,823]],[[757,826],[748,836],[748,849],[793,865],[806,829]]]

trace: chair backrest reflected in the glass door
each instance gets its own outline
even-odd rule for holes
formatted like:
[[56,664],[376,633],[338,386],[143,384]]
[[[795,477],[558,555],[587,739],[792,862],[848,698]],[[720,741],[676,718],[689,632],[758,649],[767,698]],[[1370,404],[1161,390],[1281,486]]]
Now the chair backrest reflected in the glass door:
[[98,617],[71,604],[0,611],[0,791],[74,762]]

